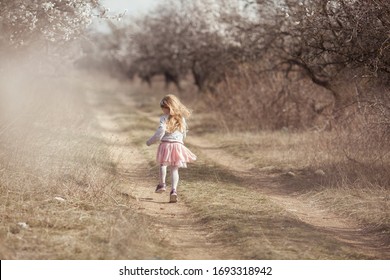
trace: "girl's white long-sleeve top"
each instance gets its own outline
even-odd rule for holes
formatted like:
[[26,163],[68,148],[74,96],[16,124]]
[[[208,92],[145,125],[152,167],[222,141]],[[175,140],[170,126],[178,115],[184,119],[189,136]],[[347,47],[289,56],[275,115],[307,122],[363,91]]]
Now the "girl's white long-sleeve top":
[[148,141],[146,141],[146,145],[150,146],[158,141],[179,142],[184,144],[184,139],[186,138],[186,134],[187,134],[187,123],[185,118],[183,118],[184,127],[185,127],[184,131],[175,130],[172,133],[166,131],[168,118],[169,115],[162,115],[160,117],[160,124],[156,132],[154,133],[154,135],[150,137]]

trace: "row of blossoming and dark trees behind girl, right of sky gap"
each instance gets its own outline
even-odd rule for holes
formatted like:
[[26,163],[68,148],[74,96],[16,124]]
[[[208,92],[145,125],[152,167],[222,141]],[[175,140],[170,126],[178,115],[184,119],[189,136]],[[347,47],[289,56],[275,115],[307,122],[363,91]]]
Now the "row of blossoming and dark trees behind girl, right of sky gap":
[[332,107],[336,116],[357,95],[370,102],[362,96],[370,87],[380,86],[375,98],[387,102],[389,19],[385,0],[166,0],[112,25],[111,35],[100,35],[99,54],[129,78],[151,84],[161,75],[179,90],[191,77],[200,92],[217,92],[243,68],[259,77],[280,73],[287,85],[306,78],[332,96],[315,110]]

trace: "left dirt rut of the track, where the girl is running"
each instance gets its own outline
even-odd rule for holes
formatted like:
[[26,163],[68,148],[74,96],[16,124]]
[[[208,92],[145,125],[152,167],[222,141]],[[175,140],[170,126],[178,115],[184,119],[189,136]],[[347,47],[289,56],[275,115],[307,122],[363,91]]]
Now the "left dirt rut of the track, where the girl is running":
[[[163,194],[154,193],[156,176],[148,176],[150,167],[139,148],[132,144],[131,132],[129,135],[129,131],[125,129],[128,123],[118,121],[120,114],[108,113],[107,110],[94,106],[102,102],[101,96],[98,97],[93,92],[89,92],[87,96],[90,104],[95,107],[103,137],[108,142],[116,143],[110,145],[110,153],[113,162],[117,164],[118,172],[125,178],[118,191],[133,199],[141,213],[155,218],[155,224],[151,227],[161,242],[168,245],[171,258],[221,259],[229,248],[208,241],[210,233],[193,216],[185,203],[169,203],[169,189]],[[104,102],[121,104],[126,106],[128,111],[135,111],[132,100],[123,94],[110,95]]]

